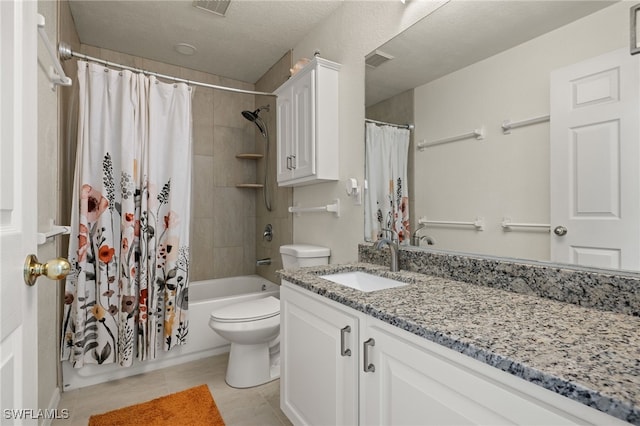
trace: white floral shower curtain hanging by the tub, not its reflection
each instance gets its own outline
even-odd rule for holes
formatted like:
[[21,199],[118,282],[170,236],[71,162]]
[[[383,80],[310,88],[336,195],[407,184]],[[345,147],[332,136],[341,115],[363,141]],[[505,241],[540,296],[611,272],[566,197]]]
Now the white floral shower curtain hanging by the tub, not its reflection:
[[84,61],[78,83],[62,359],[129,366],[188,332],[191,88]]

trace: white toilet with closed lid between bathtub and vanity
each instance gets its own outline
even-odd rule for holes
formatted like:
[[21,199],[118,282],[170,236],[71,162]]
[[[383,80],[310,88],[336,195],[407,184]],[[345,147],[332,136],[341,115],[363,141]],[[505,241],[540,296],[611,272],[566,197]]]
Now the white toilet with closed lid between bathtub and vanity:
[[[326,265],[330,253],[309,244],[280,247],[284,269]],[[249,388],[280,377],[280,300],[268,296],[227,305],[211,312],[209,327],[231,342],[229,386]]]

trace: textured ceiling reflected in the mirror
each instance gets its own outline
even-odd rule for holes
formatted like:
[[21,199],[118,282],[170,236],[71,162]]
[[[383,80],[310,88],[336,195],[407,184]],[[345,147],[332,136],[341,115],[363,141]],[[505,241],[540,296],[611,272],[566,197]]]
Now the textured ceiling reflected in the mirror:
[[394,59],[367,69],[366,105],[426,84],[617,1],[452,0],[380,46]]

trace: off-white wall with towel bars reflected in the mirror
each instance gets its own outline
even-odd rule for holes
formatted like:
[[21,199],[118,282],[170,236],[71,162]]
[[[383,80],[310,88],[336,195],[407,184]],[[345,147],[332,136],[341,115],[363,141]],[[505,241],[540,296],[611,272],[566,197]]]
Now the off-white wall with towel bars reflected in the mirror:
[[549,259],[549,233],[512,231],[514,222],[549,223],[549,124],[503,135],[504,120],[549,114],[549,72],[629,45],[629,2],[562,27],[415,90],[415,142],[467,133],[469,139],[415,154],[417,216],[469,221],[486,229],[432,228],[436,247],[499,256]]

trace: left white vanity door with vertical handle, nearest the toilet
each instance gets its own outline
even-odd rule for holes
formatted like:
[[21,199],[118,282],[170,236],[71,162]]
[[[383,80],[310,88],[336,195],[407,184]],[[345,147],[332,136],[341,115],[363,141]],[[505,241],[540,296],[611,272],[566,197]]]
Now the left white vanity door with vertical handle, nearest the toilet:
[[358,318],[314,296],[283,281],[280,406],[295,425],[357,425]]

